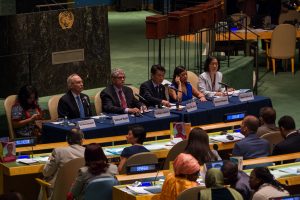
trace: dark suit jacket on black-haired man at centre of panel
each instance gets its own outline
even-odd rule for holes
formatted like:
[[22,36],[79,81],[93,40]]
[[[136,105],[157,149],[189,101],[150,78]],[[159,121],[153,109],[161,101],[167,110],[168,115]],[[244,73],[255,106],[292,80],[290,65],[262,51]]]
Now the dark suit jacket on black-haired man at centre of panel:
[[159,92],[155,90],[152,80],[148,80],[140,86],[140,95],[147,100],[145,102],[147,106],[154,107],[161,104],[162,100],[167,100],[165,87],[161,84],[158,87]]

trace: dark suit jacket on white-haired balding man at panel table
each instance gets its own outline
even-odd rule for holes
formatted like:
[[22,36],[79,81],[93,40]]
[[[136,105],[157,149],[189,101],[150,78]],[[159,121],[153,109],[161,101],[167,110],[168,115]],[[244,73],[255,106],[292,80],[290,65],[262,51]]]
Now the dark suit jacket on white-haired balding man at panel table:
[[[83,104],[85,116],[92,116],[90,98],[83,93],[80,93],[80,98]],[[67,116],[68,119],[80,118],[79,108],[76,103],[76,99],[74,98],[70,90],[60,98],[58,102],[57,112],[58,117]]]

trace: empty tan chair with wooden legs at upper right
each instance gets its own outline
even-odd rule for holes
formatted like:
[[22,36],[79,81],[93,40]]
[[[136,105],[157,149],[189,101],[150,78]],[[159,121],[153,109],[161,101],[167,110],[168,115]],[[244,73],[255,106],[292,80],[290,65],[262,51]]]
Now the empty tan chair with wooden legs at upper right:
[[[284,38],[284,39],[283,39]],[[295,72],[294,58],[296,48],[296,29],[290,24],[278,25],[271,38],[271,47],[268,48],[267,56],[272,59],[273,74],[276,74],[275,59],[291,60],[292,73]],[[268,67],[268,66],[267,66]],[[268,67],[269,68],[269,67]]]

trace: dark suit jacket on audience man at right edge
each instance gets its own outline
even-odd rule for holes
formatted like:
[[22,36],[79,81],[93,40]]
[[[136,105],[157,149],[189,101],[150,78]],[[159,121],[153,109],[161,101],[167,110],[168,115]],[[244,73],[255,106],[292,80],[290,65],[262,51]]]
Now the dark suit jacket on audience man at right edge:
[[284,141],[278,143],[273,150],[273,155],[300,152],[300,132],[295,131]]

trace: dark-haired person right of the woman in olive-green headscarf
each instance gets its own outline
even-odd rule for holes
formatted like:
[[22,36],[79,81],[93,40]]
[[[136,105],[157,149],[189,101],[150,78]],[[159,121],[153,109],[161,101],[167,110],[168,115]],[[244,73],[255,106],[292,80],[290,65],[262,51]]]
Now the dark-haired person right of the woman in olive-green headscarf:
[[225,185],[230,185],[230,187],[237,190],[244,198],[244,200],[250,200],[252,191],[249,185],[249,176],[238,170],[237,164],[225,160],[221,171],[224,176]]

